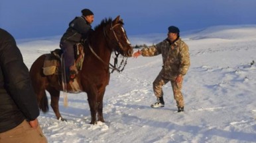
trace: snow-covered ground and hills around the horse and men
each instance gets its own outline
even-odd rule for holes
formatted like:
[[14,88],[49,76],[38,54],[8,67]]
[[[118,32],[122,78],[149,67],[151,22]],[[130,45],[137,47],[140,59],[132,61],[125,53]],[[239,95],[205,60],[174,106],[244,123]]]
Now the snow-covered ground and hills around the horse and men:
[[[255,34],[256,25],[182,33],[191,57],[184,78],[184,113],[176,112],[170,84],[164,86],[165,107],[150,107],[156,100],[152,82],[162,57],[130,58],[125,71],[111,74],[103,100],[106,123],[90,125],[86,94],[68,94],[68,107],[63,96],[60,99],[60,111],[68,122],[56,120],[50,109],[38,118],[42,130],[52,143],[256,142],[256,64],[250,64],[256,61]],[[165,36],[131,36],[130,40],[133,45],[150,45]],[[59,38],[17,40],[26,65],[31,67],[39,55],[58,48]]]

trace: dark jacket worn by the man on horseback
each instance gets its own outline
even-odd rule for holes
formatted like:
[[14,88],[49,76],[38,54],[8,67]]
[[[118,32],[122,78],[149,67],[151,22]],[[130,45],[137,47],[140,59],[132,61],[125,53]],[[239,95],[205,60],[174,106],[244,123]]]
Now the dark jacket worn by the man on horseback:
[[68,29],[63,34],[60,40],[60,43],[78,43],[81,41],[82,38],[86,38],[88,36],[90,30],[92,30],[92,26],[88,24],[83,16],[76,17],[70,22]]

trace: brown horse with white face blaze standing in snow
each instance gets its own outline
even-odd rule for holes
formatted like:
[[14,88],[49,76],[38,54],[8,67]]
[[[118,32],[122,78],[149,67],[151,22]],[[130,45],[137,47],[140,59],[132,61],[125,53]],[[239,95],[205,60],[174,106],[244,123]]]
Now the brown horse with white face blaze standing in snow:
[[[88,38],[89,47],[85,48],[85,58],[82,70],[76,77],[80,92],[86,92],[92,116],[91,124],[97,121],[104,122],[103,119],[103,96],[105,87],[109,84],[109,61],[112,51],[121,53],[125,57],[131,57],[133,47],[127,38],[123,29],[123,20],[119,16],[115,20],[105,19],[101,24],[96,26]],[[65,121],[60,115],[58,101],[60,99],[60,91],[63,91],[58,75],[45,76],[42,73],[45,55],[41,55],[32,64],[30,75],[32,86],[37,96],[40,109],[45,113],[48,111],[48,100],[46,91],[50,94],[50,105],[57,117]],[[68,84],[66,87],[68,92],[72,92],[72,88]],[[97,115],[97,118],[96,118]]]

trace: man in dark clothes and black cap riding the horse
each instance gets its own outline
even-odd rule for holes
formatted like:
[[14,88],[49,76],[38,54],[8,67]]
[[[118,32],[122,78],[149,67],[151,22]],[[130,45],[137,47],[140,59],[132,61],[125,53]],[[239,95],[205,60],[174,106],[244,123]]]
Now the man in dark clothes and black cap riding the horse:
[[91,24],[94,22],[94,13],[90,9],[83,9],[81,12],[82,16],[78,16],[70,22],[68,29],[60,40],[60,49],[63,51],[67,76],[65,82],[74,80],[76,74],[78,74],[75,65],[74,46],[88,36],[92,30]]

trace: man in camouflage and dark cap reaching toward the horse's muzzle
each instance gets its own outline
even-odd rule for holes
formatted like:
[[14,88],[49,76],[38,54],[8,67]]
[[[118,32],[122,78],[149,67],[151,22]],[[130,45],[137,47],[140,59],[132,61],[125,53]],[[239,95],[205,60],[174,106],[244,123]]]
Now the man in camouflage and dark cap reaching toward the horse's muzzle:
[[183,77],[190,67],[190,55],[188,45],[180,39],[179,33],[180,30],[176,26],[170,26],[168,28],[168,38],[157,45],[145,47],[133,55],[133,57],[138,57],[139,55],[152,57],[162,54],[162,70],[153,82],[153,90],[155,96],[157,96],[157,102],[153,103],[151,107],[164,107],[162,86],[170,82],[178,112],[184,111],[181,89]]

